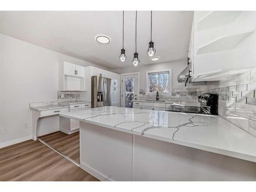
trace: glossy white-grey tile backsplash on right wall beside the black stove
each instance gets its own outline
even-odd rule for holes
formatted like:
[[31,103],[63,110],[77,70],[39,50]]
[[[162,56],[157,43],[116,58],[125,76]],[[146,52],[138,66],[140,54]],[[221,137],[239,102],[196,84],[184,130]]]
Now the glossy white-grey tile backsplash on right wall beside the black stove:
[[218,115],[256,137],[256,68],[227,80],[207,83],[197,94],[205,92],[218,95]]

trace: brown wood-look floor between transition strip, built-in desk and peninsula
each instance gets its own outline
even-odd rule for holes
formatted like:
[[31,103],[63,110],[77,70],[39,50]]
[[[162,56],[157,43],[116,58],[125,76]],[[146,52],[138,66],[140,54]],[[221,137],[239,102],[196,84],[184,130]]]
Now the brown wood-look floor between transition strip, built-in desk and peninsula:
[[80,163],[79,132],[65,134],[60,131],[38,137],[55,150]]

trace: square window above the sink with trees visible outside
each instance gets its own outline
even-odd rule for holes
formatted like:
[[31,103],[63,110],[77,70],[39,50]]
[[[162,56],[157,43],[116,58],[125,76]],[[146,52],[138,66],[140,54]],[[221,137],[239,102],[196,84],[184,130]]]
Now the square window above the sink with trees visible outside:
[[170,70],[146,72],[147,94],[170,94]]

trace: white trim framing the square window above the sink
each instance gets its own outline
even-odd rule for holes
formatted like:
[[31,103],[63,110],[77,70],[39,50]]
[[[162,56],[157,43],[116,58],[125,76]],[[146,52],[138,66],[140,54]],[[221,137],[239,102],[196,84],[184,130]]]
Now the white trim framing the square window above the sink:
[[173,78],[173,69],[162,69],[162,70],[154,70],[154,71],[146,71],[146,76],[145,76],[145,87],[146,87],[146,95],[156,95],[156,93],[150,93],[149,92],[149,87],[148,87],[148,74],[150,73],[161,73],[161,72],[169,72],[169,90],[166,93],[159,92],[159,95],[172,95],[172,78]]

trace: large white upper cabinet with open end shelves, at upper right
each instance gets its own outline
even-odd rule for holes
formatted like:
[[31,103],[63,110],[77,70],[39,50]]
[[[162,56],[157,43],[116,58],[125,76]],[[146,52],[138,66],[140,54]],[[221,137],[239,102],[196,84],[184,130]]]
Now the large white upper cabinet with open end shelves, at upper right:
[[255,11],[195,11],[192,81],[224,80],[256,66]]

